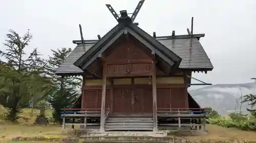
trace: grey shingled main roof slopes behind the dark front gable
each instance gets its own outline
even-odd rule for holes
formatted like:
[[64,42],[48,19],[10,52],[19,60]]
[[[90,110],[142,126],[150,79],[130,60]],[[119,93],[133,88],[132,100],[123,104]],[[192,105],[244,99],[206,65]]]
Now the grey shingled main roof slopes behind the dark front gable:
[[[212,70],[212,68],[214,68],[197,38],[159,39],[158,41],[182,58],[179,68],[193,69],[194,71],[197,71],[197,69]],[[92,40],[91,43],[85,43],[84,48],[86,51],[91,48],[95,42],[97,42],[97,40]],[[83,72],[80,68],[73,65],[74,62],[85,53],[79,41],[77,41],[77,44],[78,45],[68,58],[57,69],[56,74],[81,74]]]

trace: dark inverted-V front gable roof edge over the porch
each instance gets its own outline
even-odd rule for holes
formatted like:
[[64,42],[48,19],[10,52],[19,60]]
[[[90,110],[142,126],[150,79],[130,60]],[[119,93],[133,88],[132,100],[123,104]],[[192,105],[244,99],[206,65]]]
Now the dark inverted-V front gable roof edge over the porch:
[[[86,69],[93,61],[95,61],[99,54],[101,54],[106,48],[108,48],[115,40],[117,40],[121,35],[130,33],[141,43],[146,45],[151,50],[155,51],[160,58],[162,58],[170,66],[179,65],[181,58],[175,54],[173,51],[169,50],[167,47],[162,45],[155,38],[141,30],[138,26],[131,22],[131,18],[120,17],[118,19],[118,24],[112,28],[105,36],[103,36],[99,41],[92,46],[88,52],[84,53],[74,65]],[[176,66],[177,67],[177,66]]]

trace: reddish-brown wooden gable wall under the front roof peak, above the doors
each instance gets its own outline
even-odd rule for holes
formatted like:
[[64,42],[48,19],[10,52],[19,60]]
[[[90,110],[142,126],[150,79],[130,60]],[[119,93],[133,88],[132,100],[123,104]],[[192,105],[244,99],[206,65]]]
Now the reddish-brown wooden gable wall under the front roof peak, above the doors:
[[113,44],[106,54],[108,77],[152,75],[151,50],[135,38],[123,39]]

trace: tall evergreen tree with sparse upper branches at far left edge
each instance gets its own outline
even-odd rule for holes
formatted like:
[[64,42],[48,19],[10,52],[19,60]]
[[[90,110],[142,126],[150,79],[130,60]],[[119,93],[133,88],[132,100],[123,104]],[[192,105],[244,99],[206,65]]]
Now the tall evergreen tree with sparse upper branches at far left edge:
[[22,37],[15,31],[9,30],[6,43],[4,43],[7,49],[6,51],[0,50],[0,55],[6,60],[6,62],[1,62],[0,68],[0,102],[8,109],[7,119],[12,122],[19,118],[20,110],[27,106],[31,96],[35,95],[31,93],[31,87],[35,83],[38,92],[45,90],[42,87],[45,87],[46,78],[35,70],[41,66],[37,51],[32,51],[26,58],[25,48],[31,39],[32,35],[29,30]]

